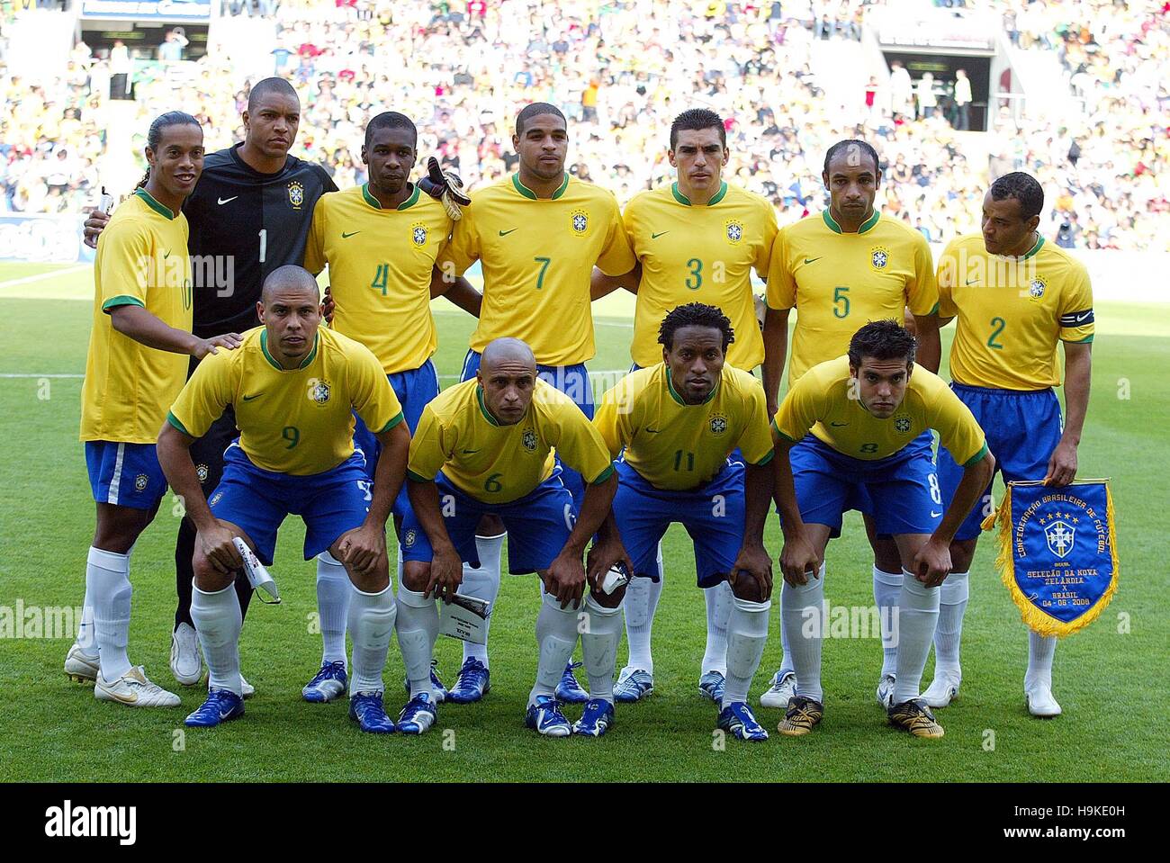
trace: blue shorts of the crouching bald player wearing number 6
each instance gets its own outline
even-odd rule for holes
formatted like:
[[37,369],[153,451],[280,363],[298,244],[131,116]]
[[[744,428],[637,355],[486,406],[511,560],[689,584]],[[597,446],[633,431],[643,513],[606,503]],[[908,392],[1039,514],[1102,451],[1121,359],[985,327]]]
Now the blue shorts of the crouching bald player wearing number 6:
[[[528,495],[505,504],[477,500],[456,488],[442,471],[435,477],[435,485],[439,486],[439,506],[447,536],[460,559],[476,568],[480,554],[475,547],[475,527],[483,516],[498,516],[508,530],[508,572],[512,575],[548,569],[565,547],[576,522],[573,499],[560,482],[559,467]],[[434,558],[431,540],[413,510],[402,519],[401,555],[404,561],[426,564]]]

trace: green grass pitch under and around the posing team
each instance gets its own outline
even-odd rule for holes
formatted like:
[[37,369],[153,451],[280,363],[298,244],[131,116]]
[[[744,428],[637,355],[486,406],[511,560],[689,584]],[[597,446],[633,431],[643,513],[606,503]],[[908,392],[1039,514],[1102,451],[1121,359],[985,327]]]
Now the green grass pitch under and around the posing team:
[[[8,609],[9,620],[18,602],[27,615],[30,608],[80,606],[84,592],[94,504],[77,424],[91,285],[85,268],[0,265],[0,609]],[[628,366],[628,308],[626,298],[594,306],[598,355],[591,368]],[[449,385],[473,322],[442,301],[435,309],[435,364]],[[178,526],[167,498],[135,551],[130,655],[157,683],[178,691],[183,706],[135,711],[96,702],[91,689],[69,683],[61,670],[71,633],[0,638],[0,679],[9,693],[0,710],[0,781],[1165,781],[1170,766],[1156,730],[1170,679],[1163,513],[1170,502],[1163,468],[1170,306],[1099,303],[1096,311],[1080,475],[1113,477],[1121,586],[1101,619],[1058,650],[1054,691],[1065,713],[1054,720],[1033,719],[1024,706],[1025,629],[991,568],[989,534],[972,567],[962,695],[938,712],[945,738],[915,740],[886,725],[873,695],[880,641],[870,634],[826,641],[826,712],[815,733],[773,733],[757,745],[729,739],[721,747],[713,734],[715,709],[696,689],[703,600],[686,533],[675,527],[663,545],[655,692],[644,703],[619,705],[605,738],[549,740],[523,727],[536,670],[537,587],[534,577],[507,575],[494,614],[488,698],[440,706],[435,729],[421,738],[362,734],[346,718],[345,700],[310,705],[300,697],[319,664],[321,638],[310,631],[315,568],[301,560],[303,527],[290,518],[273,567],[285,601],[254,602],[243,630],[242,667],[256,696],[239,722],[184,731],[183,718],[202,693],[174,684],[167,668]],[[944,347],[952,330],[944,331]],[[766,541],[778,555],[775,517]],[[830,546],[830,602],[872,606],[870,565],[852,513],[842,539]],[[753,705],[779,661],[778,602],[771,614]],[[15,634],[35,633],[25,627]],[[460,645],[440,638],[436,655],[449,683]],[[625,655],[622,644],[619,667]],[[401,674],[394,645],[386,670],[391,713],[405,702]],[[576,718],[579,707],[566,713]],[[757,710],[770,730],[779,713]]]

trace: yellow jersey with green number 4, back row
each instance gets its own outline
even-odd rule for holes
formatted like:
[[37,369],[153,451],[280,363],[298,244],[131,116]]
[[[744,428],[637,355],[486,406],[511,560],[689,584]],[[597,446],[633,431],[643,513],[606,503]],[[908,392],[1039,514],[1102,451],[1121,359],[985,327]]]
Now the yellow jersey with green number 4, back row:
[[312,210],[304,267],[329,264],[332,329],[373,351],[386,374],[418,368],[439,345],[431,272],[450,226],[418,186],[397,209],[383,209],[365,184],[323,195]]

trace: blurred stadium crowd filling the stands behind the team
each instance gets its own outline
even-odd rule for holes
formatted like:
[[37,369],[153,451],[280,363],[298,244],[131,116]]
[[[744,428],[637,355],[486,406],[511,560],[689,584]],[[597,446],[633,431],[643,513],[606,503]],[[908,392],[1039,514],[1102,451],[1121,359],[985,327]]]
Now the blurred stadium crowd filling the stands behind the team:
[[[516,111],[549,101],[573,122],[572,173],[625,202],[669,175],[669,119],[702,105],[725,118],[732,179],[772,200],[782,225],[821,207],[819,154],[858,136],[886,163],[883,212],[932,241],[977,227],[989,172],[1024,170],[1053,201],[1042,227],[1060,244],[1170,249],[1157,232],[1170,209],[1170,90],[1159,75],[1170,62],[1170,4],[1092,0],[1071,21],[1068,4],[1000,2],[1014,44],[1058,51],[1085,113],[1058,126],[993,109],[990,164],[982,151],[969,160],[962,133],[921,103],[902,113],[880,94],[845,108],[823,98],[812,43],[856,40],[869,5],[284,0],[264,11],[275,6],[274,70],[302,94],[297,150],[340,188],[365,179],[360,130],[384,108],[414,117],[421,152],[475,188],[515,166]],[[247,82],[211,56],[195,69],[190,77],[165,64],[139,70],[142,117],[183,105],[204,124],[209,149],[226,146],[242,137]],[[94,202],[110,74],[84,43],[50,82],[0,65],[11,106],[0,117],[0,212]]]

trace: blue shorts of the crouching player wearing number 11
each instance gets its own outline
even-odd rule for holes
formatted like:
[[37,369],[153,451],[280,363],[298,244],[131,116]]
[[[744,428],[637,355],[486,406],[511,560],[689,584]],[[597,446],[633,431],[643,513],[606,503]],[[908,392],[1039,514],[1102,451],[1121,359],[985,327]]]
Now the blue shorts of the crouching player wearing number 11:
[[704,486],[666,491],[651,485],[626,462],[618,462],[613,517],[634,575],[659,580],[658,544],[673,522],[695,544],[695,580],[711,587],[727,578],[743,546],[744,467],[728,461]]

